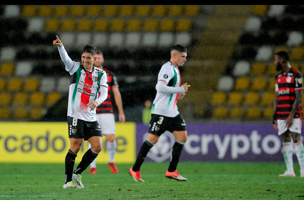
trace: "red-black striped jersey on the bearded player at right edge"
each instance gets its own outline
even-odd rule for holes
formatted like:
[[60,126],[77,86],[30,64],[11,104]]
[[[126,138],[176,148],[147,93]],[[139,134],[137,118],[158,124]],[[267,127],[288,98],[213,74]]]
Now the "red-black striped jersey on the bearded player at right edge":
[[[291,68],[287,73],[281,71],[275,76],[275,92],[278,93],[277,119],[287,119],[295,102],[295,91],[302,89],[302,74],[295,68]],[[294,117],[299,118],[301,116],[302,103]]]

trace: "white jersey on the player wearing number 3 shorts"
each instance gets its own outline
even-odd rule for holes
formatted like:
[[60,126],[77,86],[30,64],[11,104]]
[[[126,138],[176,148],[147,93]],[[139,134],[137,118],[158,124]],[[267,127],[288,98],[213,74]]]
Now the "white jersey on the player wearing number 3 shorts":
[[[164,81],[169,87],[179,87],[181,84],[181,76],[179,69],[171,62],[165,63],[161,67],[161,71],[158,73],[157,82]],[[177,109],[178,93],[156,93],[156,97],[152,104],[151,113],[175,117],[179,114]]]

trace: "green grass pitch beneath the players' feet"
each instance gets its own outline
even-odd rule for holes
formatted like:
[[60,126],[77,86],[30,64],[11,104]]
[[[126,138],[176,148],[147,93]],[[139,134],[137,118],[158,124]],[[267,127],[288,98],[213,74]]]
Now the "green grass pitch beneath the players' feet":
[[83,189],[63,189],[64,164],[0,163],[2,199],[304,199],[304,178],[295,162],[295,178],[279,178],[284,163],[181,162],[187,181],[165,178],[168,163],[145,162],[144,183],[128,174],[131,164],[118,164],[111,174],[105,164],[97,174],[82,173]]

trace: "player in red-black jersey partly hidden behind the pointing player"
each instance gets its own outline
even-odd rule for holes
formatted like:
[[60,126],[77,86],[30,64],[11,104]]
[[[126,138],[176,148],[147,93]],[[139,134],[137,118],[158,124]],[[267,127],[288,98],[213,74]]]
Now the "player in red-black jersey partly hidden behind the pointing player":
[[[116,76],[112,71],[109,71],[107,69],[103,69],[104,58],[103,54],[100,50],[96,53],[96,60],[94,62],[94,66],[98,67],[101,70],[104,70],[107,74],[108,79],[108,97],[106,100],[100,104],[96,108],[96,119],[98,121],[98,124],[101,126],[102,134],[107,137],[107,147],[109,151],[109,164],[111,171],[113,174],[118,173],[118,169],[114,163],[114,157],[116,152],[116,140],[115,140],[115,117],[113,112],[113,106],[111,102],[111,92],[113,91],[115,103],[117,105],[118,111],[119,111],[119,121],[125,122],[125,115],[123,113],[123,101],[121,99],[121,95],[118,89],[118,83],[116,80]],[[91,148],[91,144],[88,143],[88,149]],[[91,163],[90,165],[90,172],[89,174],[96,174],[96,159]]]

